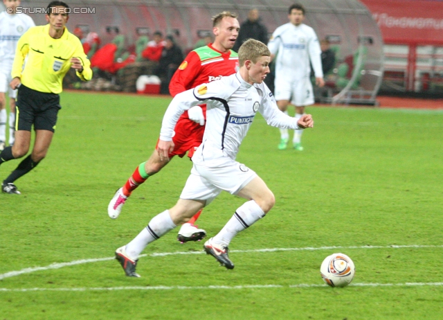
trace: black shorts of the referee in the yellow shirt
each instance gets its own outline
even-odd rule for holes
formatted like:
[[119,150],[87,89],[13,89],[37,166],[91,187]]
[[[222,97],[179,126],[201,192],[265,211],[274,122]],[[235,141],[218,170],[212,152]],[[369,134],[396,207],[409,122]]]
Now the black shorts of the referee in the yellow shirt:
[[30,131],[34,125],[34,130],[55,131],[57,114],[62,108],[58,94],[47,94],[20,85],[15,105],[15,130]]

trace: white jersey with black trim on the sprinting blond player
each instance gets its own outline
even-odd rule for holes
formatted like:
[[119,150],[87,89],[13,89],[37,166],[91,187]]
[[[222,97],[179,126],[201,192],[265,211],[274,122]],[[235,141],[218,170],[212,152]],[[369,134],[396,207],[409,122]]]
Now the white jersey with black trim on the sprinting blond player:
[[264,83],[250,85],[239,72],[177,94],[163,117],[160,139],[171,141],[180,115],[195,105],[206,103],[203,142],[192,161],[220,157],[235,159],[255,114],[260,112],[273,127],[299,129],[296,118],[281,112]]

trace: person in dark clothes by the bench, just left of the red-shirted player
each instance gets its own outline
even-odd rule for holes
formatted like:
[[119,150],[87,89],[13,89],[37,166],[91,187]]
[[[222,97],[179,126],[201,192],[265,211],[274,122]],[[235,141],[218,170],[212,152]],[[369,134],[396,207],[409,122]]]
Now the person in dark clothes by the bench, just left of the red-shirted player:
[[161,94],[169,94],[169,82],[172,75],[183,62],[183,51],[174,42],[174,37],[168,35],[165,39],[165,46],[161,52],[159,66],[156,67],[154,73],[161,78]]

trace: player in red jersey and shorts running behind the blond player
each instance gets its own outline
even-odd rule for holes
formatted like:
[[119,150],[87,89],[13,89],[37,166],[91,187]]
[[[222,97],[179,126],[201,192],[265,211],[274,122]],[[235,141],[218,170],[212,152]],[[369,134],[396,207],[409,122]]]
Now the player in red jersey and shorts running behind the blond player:
[[[191,51],[174,73],[170,82],[170,93],[175,96],[183,91],[197,87],[203,83],[217,80],[238,71],[238,55],[232,51],[239,31],[237,15],[224,11],[213,17],[214,43]],[[143,184],[146,179],[159,172],[175,155],[183,157],[188,152],[191,158],[201,144],[205,131],[206,105],[191,108],[184,112],[174,128],[172,139],[174,150],[168,159],[161,159],[157,150],[154,150],[150,159],[141,163],[126,184],[116,191],[109,202],[108,214],[116,219],[122,210],[126,199],[132,191]],[[197,241],[206,236],[206,231],[198,229],[194,222],[201,211],[181,226],[177,239],[180,242]]]

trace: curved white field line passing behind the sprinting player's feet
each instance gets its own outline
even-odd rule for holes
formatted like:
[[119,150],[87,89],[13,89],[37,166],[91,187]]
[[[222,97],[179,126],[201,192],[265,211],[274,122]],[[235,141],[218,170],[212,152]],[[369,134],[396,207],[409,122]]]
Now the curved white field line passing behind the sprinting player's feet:
[[[277,251],[315,251],[315,250],[338,250],[338,249],[404,249],[404,248],[443,248],[443,245],[390,245],[390,246],[352,246],[352,247],[304,247],[304,248],[272,248],[272,249],[252,249],[252,250],[231,250],[230,253],[260,253],[260,252],[277,252]],[[162,256],[172,256],[177,254],[189,255],[189,254],[204,254],[204,251],[178,251],[178,252],[163,252],[154,254],[142,254],[139,258],[145,256],[150,257],[162,257]],[[71,265],[82,265],[84,263],[98,263],[100,261],[114,260],[111,258],[94,258],[94,259],[82,259],[74,260],[69,263],[52,263],[46,267],[30,267],[26,269],[21,269],[19,271],[6,272],[6,274],[0,274],[0,280],[4,278],[10,278],[12,276],[20,276],[21,274],[30,274],[32,272],[50,270],[50,269],[60,269],[63,267],[70,267]]]

